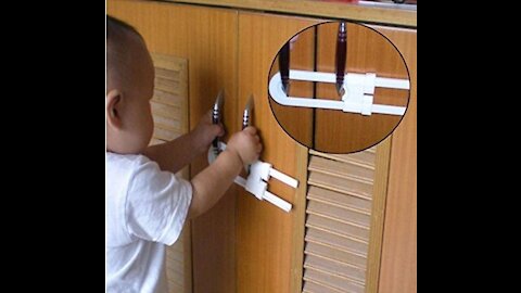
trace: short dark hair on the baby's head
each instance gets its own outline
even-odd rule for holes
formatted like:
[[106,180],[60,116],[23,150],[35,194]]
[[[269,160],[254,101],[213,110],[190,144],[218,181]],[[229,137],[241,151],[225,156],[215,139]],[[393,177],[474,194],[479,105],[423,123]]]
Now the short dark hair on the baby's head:
[[122,69],[131,62],[128,47],[130,42],[139,39],[143,41],[142,36],[131,25],[106,15],[106,68],[107,80],[126,82],[125,76],[122,76]]

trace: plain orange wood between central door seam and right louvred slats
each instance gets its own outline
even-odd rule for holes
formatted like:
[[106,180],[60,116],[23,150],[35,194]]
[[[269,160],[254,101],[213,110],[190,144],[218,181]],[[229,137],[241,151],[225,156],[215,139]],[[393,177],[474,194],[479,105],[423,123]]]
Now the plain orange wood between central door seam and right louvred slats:
[[[290,203],[305,196],[307,150],[288,136],[272,115],[268,101],[268,75],[271,62],[282,44],[317,20],[241,12],[239,14],[239,109],[246,98],[255,98],[253,125],[264,143],[262,161],[278,170],[297,177],[294,190],[270,180],[269,190]],[[297,117],[294,123],[297,124]],[[304,126],[303,126],[304,127]],[[302,279],[302,247],[294,250],[294,232],[303,234],[303,204],[284,213],[268,202],[259,202],[240,191],[237,198],[237,292],[297,292],[290,289],[293,277]],[[300,238],[303,239],[303,235]],[[302,242],[302,241],[301,241]],[[295,252],[301,252],[300,255]],[[295,258],[298,266],[292,266]],[[298,263],[298,262],[297,262]],[[291,291],[290,291],[291,290]]]

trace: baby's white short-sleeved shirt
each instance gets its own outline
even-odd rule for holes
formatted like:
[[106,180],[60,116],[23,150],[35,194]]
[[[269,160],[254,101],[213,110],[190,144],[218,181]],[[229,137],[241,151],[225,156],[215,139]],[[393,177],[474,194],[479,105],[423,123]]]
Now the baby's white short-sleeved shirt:
[[167,292],[165,254],[181,233],[190,182],[143,155],[106,153],[106,292]]

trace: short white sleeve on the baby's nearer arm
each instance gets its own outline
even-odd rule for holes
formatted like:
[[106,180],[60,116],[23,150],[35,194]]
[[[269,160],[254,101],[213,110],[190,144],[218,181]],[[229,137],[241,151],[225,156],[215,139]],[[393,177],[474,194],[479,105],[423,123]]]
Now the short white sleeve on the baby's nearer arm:
[[131,237],[171,245],[179,238],[192,199],[192,186],[145,160],[127,191],[125,219]]

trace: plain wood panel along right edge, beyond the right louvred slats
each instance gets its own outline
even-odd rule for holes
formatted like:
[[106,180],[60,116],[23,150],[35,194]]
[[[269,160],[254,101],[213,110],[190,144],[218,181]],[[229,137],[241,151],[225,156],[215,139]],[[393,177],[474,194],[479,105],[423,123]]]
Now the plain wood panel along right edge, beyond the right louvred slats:
[[410,104],[392,137],[379,293],[417,292],[417,33],[376,27],[404,55]]

